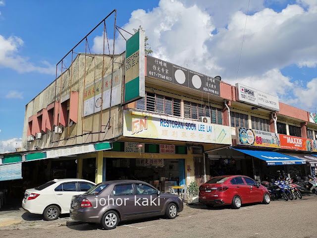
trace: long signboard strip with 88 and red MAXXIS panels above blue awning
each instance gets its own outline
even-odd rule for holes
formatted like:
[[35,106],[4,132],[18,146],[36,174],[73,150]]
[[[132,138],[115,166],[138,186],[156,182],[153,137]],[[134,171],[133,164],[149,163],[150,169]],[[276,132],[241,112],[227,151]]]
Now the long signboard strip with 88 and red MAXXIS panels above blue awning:
[[237,127],[238,144],[317,152],[317,140]]

